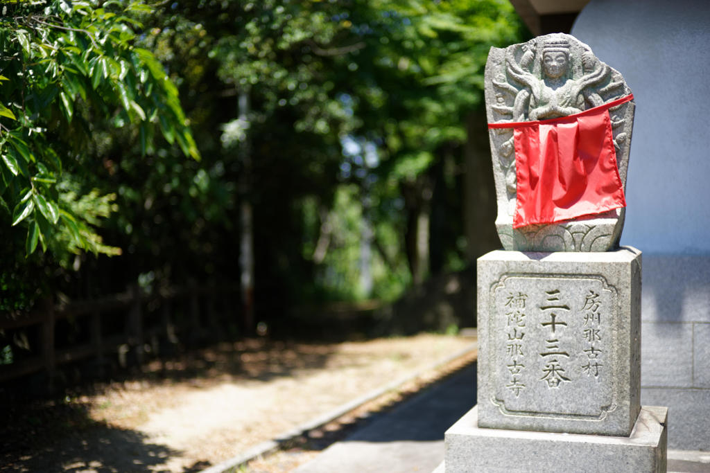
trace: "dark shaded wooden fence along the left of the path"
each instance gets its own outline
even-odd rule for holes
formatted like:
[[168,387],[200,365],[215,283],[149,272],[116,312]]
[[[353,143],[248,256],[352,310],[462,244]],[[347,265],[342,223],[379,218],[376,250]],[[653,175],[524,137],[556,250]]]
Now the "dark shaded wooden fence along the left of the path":
[[[239,325],[237,284],[197,285],[146,294],[138,285],[90,301],[49,299],[21,316],[0,316],[6,335],[22,333],[22,350],[0,364],[0,382],[44,371],[50,389],[58,366],[118,355],[121,365],[140,364],[160,346],[200,343]],[[2,348],[2,347],[0,347]]]

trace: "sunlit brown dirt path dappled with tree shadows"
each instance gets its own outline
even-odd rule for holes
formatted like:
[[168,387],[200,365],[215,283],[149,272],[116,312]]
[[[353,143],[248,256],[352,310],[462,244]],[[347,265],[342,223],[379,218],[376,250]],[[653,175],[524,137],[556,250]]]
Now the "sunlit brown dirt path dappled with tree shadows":
[[60,417],[66,425],[53,422],[53,435],[40,425],[34,435],[13,432],[27,440],[9,443],[4,471],[199,471],[470,343],[447,335],[340,344],[247,340],[154,362],[140,379],[44,406],[68,409]]

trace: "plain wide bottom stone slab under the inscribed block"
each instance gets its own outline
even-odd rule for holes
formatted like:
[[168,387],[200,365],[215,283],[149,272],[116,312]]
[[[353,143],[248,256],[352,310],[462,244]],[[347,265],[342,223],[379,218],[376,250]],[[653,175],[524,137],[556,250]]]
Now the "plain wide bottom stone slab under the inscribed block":
[[478,427],[478,406],[447,430],[444,471],[665,472],[668,409],[643,406],[629,437]]

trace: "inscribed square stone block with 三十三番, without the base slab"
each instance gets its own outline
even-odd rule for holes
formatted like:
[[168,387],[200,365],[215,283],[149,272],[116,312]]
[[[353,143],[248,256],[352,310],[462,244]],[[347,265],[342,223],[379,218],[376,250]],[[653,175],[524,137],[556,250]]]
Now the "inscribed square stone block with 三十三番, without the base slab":
[[640,409],[640,252],[478,260],[479,426],[628,435]]

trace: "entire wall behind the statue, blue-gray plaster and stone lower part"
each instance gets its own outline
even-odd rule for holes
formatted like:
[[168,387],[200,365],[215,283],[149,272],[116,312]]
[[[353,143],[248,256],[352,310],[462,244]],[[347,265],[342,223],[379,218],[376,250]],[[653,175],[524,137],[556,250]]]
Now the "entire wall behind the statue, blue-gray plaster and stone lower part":
[[668,446],[710,450],[710,1],[591,0],[572,35],[628,82],[621,243],[643,251],[641,401]]

